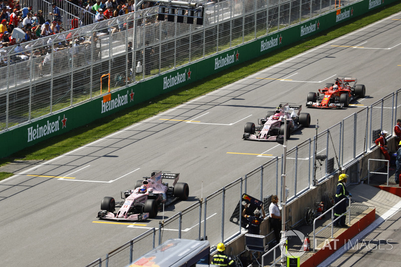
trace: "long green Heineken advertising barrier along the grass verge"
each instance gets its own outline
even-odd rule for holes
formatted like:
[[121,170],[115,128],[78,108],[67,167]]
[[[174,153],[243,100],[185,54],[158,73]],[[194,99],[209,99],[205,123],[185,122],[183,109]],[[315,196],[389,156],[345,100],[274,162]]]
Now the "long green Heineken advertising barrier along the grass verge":
[[[132,107],[398,0],[365,0],[0,134],[0,157]],[[83,116],[85,114],[85,116]]]

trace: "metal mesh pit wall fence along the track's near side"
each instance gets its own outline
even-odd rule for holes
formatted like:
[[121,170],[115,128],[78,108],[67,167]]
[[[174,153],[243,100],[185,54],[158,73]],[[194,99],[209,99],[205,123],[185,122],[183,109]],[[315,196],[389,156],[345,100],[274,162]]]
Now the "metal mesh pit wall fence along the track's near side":
[[[269,196],[278,195],[280,199],[286,199],[288,205],[310,190],[314,179],[321,183],[340,169],[353,165],[375,147],[377,132],[392,132],[396,118],[401,118],[401,109],[398,108],[401,105],[400,94],[401,89],[398,89],[334,126],[320,132],[318,129],[313,139],[288,150],[285,170],[288,195],[282,196],[281,190],[283,157],[271,158],[244,177],[171,216],[158,228],[132,239],[107,254],[105,259],[97,259],[88,266],[123,267],[125,265],[119,262],[128,264],[169,238],[207,238],[212,245],[237,238],[241,235],[240,201],[243,193],[263,200],[268,214]],[[362,178],[359,173],[351,173],[349,182],[358,183]],[[136,245],[139,242],[140,245]]]

